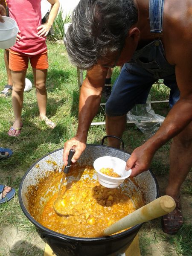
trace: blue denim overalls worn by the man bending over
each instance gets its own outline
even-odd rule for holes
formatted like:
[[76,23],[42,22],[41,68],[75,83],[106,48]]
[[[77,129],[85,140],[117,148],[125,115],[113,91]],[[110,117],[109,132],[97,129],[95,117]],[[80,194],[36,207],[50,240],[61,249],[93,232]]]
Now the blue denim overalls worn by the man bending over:
[[[151,33],[162,33],[164,0],[149,1]],[[151,86],[157,79],[164,79],[170,88],[169,105],[177,102],[180,92],[175,79],[175,66],[166,61],[161,40],[155,40],[136,50],[131,61],[122,67],[111,96],[106,103],[108,116],[122,116],[136,104],[145,104]]]

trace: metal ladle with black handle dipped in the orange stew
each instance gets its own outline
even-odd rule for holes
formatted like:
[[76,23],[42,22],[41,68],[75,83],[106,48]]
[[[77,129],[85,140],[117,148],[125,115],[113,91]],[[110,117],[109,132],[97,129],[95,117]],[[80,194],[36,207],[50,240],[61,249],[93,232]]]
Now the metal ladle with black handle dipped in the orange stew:
[[54,205],[53,205],[55,212],[57,212],[59,215],[66,215],[66,213],[64,212],[64,193],[66,191],[66,186],[64,185],[64,183],[65,183],[66,175],[70,171],[71,160],[72,160],[72,157],[74,154],[75,154],[75,149],[71,148],[70,152],[69,152],[67,166],[65,166],[64,171],[63,171],[64,175],[63,175],[63,178],[61,181],[61,186],[59,188],[58,197],[55,200]]

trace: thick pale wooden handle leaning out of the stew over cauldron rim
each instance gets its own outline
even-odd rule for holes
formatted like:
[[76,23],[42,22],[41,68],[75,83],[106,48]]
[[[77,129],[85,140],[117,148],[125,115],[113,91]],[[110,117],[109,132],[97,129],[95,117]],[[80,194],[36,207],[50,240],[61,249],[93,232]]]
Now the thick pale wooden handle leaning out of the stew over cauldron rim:
[[109,236],[128,227],[163,216],[172,212],[175,206],[175,201],[172,197],[163,195],[105,228],[102,236]]

